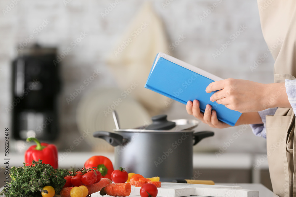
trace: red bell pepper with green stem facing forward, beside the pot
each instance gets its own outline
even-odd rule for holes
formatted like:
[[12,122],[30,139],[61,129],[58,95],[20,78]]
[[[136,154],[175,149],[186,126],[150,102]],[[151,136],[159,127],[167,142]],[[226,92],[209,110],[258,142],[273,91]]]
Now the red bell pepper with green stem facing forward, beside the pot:
[[112,162],[110,159],[104,156],[92,156],[85,163],[85,167],[96,167],[102,174],[102,178],[108,178],[111,180],[111,174],[114,171]]

